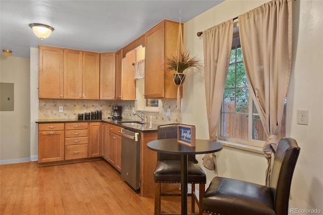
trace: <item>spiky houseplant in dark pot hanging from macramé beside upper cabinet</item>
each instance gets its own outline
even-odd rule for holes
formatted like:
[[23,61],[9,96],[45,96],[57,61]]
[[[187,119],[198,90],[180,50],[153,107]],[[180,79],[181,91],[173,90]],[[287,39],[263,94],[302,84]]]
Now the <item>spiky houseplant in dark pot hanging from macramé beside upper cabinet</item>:
[[181,51],[176,56],[170,55],[165,59],[166,71],[174,72],[174,83],[183,85],[185,80],[185,72],[189,70],[200,70],[200,60],[196,57],[191,57],[189,51]]

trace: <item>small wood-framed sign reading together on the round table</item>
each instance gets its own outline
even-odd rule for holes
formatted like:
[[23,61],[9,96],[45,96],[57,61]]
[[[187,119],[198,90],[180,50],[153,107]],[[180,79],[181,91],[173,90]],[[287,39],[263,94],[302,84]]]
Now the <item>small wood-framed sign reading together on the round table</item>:
[[195,126],[178,125],[177,141],[195,147]]

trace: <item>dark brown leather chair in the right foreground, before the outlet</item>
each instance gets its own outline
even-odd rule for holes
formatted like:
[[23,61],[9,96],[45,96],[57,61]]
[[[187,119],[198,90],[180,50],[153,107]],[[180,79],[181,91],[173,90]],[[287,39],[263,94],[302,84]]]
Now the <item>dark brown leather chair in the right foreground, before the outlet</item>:
[[214,177],[202,198],[203,212],[287,215],[292,176],[299,152],[300,147],[294,139],[282,138],[279,141],[270,186]]

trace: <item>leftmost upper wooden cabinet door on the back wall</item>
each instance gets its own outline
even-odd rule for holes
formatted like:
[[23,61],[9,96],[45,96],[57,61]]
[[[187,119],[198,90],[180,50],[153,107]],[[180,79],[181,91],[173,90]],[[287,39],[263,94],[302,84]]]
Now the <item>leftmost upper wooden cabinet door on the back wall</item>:
[[39,98],[63,98],[63,48],[39,45]]

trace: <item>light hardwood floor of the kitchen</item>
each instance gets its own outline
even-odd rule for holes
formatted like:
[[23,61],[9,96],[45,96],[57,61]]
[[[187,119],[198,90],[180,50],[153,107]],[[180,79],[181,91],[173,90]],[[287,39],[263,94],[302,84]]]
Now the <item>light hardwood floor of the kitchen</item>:
[[[154,209],[154,195],[141,197],[105,160],[50,167],[37,167],[37,162],[0,165],[0,187],[2,215],[141,215]],[[163,197],[161,209],[179,213],[180,201]]]

